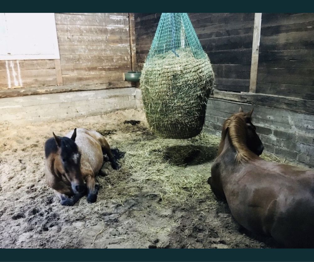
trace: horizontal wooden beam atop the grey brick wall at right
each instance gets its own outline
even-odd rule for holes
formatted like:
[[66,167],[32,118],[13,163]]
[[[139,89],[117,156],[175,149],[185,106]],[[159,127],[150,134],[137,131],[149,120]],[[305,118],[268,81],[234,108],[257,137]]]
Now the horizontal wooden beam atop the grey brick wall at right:
[[248,92],[236,93],[220,90],[213,90],[213,94],[211,94],[210,97],[314,115],[313,100]]

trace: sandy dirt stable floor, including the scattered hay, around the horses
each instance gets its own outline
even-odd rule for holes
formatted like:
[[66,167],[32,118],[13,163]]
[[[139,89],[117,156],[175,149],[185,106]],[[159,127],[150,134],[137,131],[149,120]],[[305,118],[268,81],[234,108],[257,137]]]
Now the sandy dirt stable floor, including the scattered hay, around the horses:
[[[124,123],[129,120],[140,123]],[[98,130],[125,155],[118,171],[104,163],[96,203],[88,204],[84,197],[67,207],[46,185],[43,147],[52,131],[62,136],[75,127]],[[2,125],[0,247],[276,247],[271,239],[248,234],[227,205],[215,200],[207,178],[219,138],[210,139],[208,144],[201,136],[159,139],[138,110],[25,127]],[[176,155],[180,150],[181,158]]]

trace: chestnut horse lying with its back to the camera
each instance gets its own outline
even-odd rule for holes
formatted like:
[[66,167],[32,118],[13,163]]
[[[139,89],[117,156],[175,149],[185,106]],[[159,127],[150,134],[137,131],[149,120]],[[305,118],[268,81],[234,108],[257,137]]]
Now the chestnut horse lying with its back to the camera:
[[258,157],[263,144],[252,111],[240,108],[225,121],[208,183],[247,230],[285,247],[314,248],[314,172]]

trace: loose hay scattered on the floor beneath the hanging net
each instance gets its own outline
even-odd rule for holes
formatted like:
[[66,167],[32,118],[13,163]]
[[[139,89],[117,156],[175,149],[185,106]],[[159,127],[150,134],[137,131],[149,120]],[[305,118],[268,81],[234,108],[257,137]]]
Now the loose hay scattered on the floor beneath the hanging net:
[[[122,144],[126,151],[124,168],[131,170],[141,182],[160,183],[160,195],[165,202],[203,200],[210,194],[207,179],[219,142],[220,137],[201,133],[185,140],[155,138]],[[262,158],[280,162],[278,157],[265,153]]]

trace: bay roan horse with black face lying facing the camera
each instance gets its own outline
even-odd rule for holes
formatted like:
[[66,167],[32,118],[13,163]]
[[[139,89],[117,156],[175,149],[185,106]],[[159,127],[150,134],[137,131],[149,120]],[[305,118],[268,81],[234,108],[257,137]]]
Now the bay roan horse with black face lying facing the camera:
[[74,205],[86,194],[86,189],[88,202],[96,202],[99,186],[95,185],[95,175],[102,167],[103,153],[114,169],[120,168],[106,139],[96,131],[75,128],[65,137],[53,133],[46,141],[46,180],[61,205]]

